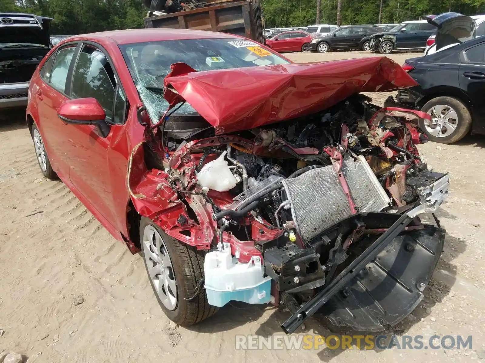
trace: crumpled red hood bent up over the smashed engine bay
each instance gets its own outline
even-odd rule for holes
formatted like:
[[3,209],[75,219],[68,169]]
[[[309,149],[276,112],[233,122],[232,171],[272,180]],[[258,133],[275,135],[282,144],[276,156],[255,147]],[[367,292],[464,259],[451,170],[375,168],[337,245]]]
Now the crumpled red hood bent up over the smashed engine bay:
[[188,102],[220,135],[322,111],[358,92],[416,85],[383,57],[206,72],[176,63],[164,97],[171,107]]

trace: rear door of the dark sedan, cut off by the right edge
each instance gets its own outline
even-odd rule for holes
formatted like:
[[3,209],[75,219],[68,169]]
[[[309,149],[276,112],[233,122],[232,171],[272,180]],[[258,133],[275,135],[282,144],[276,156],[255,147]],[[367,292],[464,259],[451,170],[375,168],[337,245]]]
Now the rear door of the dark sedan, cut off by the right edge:
[[[485,42],[460,54],[460,88],[468,94],[473,105],[474,128],[485,131]],[[478,122],[477,122],[478,121]]]

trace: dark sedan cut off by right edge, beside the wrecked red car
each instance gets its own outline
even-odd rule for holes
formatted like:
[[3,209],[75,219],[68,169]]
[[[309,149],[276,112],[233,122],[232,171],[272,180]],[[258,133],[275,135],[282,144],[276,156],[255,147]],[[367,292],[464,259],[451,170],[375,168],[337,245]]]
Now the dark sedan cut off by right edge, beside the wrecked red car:
[[470,131],[485,135],[485,37],[409,59],[403,68],[419,86],[400,90],[386,107],[429,113],[431,121],[420,127],[431,141],[451,144]]

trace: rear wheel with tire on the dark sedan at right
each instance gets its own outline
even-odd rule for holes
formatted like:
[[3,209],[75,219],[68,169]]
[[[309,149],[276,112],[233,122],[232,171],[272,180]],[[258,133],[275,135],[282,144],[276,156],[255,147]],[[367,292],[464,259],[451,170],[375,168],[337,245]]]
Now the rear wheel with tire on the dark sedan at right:
[[421,107],[421,111],[432,115],[431,125],[420,121],[420,128],[430,141],[453,144],[470,131],[470,111],[462,101],[454,97],[433,98]]

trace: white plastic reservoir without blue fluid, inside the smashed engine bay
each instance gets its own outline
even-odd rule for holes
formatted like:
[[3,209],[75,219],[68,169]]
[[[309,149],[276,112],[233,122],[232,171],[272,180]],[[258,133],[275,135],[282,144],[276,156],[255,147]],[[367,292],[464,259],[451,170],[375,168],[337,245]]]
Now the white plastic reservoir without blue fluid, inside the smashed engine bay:
[[202,167],[200,172],[195,172],[199,185],[218,192],[227,192],[236,186],[236,178],[224,160],[227,151],[224,151],[217,159],[210,161]]

